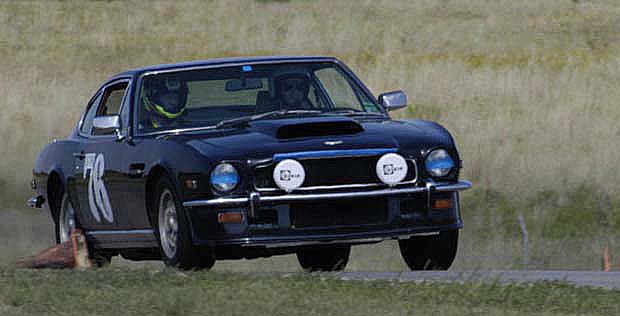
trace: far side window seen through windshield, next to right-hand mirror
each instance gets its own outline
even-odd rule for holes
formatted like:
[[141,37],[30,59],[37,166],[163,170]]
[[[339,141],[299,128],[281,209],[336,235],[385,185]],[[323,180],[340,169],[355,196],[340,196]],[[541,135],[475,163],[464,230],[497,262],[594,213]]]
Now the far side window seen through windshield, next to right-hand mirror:
[[355,91],[347,79],[335,68],[323,68],[315,72],[336,108],[351,108],[364,111]]

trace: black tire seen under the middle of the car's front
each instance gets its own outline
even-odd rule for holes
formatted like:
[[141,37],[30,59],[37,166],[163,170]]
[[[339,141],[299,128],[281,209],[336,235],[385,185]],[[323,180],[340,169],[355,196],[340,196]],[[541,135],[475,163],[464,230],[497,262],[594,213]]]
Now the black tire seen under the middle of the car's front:
[[297,251],[297,260],[307,272],[342,271],[350,254],[351,246],[307,248]]

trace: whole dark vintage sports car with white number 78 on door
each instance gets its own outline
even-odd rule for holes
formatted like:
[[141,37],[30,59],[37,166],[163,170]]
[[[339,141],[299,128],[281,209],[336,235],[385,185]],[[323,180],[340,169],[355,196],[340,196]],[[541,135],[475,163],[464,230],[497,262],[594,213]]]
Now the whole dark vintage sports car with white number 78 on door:
[[99,262],[296,253],[344,269],[352,245],[398,240],[411,269],[447,269],[463,223],[461,160],[437,123],[393,120],[328,57],[212,59],[120,73],[41,152],[34,207]]

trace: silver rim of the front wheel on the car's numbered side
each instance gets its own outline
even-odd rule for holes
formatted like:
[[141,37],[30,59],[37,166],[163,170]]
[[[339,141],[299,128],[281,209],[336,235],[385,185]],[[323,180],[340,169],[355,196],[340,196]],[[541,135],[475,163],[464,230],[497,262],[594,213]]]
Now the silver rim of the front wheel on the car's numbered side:
[[177,208],[170,190],[166,189],[159,197],[159,237],[166,257],[173,258],[177,250],[179,233]]

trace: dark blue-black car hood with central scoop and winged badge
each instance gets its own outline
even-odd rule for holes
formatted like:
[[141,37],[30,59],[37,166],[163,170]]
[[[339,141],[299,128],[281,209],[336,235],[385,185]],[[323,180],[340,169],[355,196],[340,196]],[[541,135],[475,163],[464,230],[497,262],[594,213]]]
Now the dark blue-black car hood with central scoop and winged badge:
[[396,148],[402,154],[419,157],[429,148],[454,147],[447,130],[433,122],[356,120],[344,116],[258,120],[240,128],[181,133],[165,138],[185,143],[211,161],[268,159],[277,153],[374,148]]

